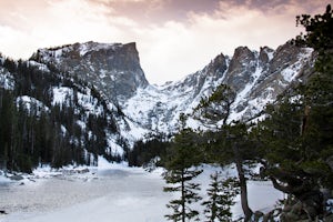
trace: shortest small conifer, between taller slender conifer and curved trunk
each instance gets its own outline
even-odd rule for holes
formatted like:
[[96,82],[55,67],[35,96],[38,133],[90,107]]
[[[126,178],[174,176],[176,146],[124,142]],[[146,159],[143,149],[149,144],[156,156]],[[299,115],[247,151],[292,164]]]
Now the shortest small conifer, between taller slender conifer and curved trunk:
[[209,200],[202,203],[205,206],[206,222],[231,221],[231,206],[235,203],[233,199],[239,194],[239,183],[235,178],[222,180],[219,172],[211,174],[210,178]]

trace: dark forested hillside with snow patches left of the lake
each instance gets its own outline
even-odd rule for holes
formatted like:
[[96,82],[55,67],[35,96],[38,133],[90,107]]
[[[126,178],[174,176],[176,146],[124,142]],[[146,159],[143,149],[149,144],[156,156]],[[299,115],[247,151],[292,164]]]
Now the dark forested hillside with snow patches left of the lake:
[[119,161],[119,113],[92,85],[52,65],[2,58],[0,167],[30,172],[39,164],[97,164],[98,155]]

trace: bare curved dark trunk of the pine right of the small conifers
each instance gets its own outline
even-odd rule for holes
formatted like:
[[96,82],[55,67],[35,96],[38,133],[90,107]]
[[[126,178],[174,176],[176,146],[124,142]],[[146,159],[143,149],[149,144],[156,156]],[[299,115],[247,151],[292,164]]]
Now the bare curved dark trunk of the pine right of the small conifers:
[[242,204],[242,209],[243,209],[243,212],[245,215],[244,221],[250,221],[251,216],[253,214],[253,211],[249,206],[246,178],[245,178],[245,173],[244,173],[243,165],[242,165],[242,159],[240,157],[240,151],[239,151],[236,144],[233,145],[233,153],[234,153],[235,164],[236,164],[239,179],[240,179],[241,204]]

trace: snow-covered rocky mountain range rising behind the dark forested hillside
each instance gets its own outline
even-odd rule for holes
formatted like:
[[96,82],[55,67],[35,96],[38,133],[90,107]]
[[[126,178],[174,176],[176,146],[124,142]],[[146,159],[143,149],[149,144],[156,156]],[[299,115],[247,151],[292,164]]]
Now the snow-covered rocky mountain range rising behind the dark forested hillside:
[[[113,138],[132,144],[149,132],[176,131],[180,113],[191,114],[201,98],[209,97],[222,83],[236,93],[229,121],[250,120],[292,82],[302,81],[313,61],[311,49],[297,48],[290,42],[276,50],[263,47],[253,51],[239,47],[232,57],[221,53],[202,70],[163,85],[150,84],[145,79],[135,43],[85,42],[40,49],[32,54],[29,64],[69,77],[77,85],[85,82],[82,89],[91,91],[88,94],[97,91],[99,100],[102,100],[100,102],[107,104],[104,109],[115,113],[112,120],[122,139],[119,135]],[[10,88],[12,75],[6,70],[1,72],[0,83]],[[64,85],[52,90],[58,98],[74,97]],[[65,98],[62,98],[63,101]],[[90,107],[94,107],[93,103]],[[84,125],[84,120],[80,123]],[[201,127],[191,118],[188,124]]]

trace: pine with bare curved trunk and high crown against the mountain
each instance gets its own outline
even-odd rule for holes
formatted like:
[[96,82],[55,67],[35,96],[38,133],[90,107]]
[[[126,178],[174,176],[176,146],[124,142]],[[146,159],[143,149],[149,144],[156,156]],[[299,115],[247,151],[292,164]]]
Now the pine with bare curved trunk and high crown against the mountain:
[[233,89],[221,84],[211,97],[201,100],[200,104],[193,110],[193,115],[208,127],[215,127],[216,122],[222,123],[220,128],[213,129],[209,133],[214,139],[208,138],[206,150],[213,153],[210,155],[211,161],[218,161],[222,165],[231,162],[235,163],[241,188],[241,204],[245,221],[249,221],[253,211],[248,203],[248,179],[243,164],[246,160],[256,159],[258,153],[255,147],[249,143],[248,125],[242,122],[228,122],[234,100],[235,92]]

